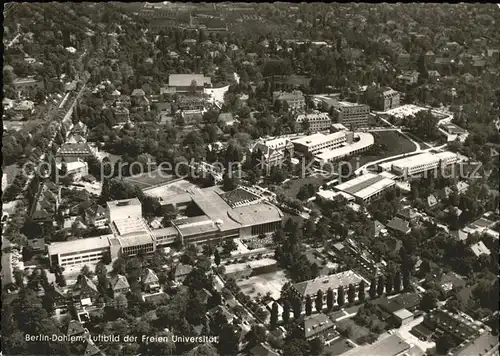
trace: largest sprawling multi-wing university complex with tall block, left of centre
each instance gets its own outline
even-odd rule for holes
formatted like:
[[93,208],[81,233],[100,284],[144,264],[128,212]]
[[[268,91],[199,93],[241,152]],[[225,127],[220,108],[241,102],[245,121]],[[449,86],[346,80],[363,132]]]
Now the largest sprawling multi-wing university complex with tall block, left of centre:
[[138,199],[107,203],[111,234],[48,246],[50,265],[61,267],[96,264],[105,256],[149,254],[176,241],[183,244],[221,241],[236,237],[271,233],[281,226],[283,213],[269,203],[232,208],[223,195],[213,189],[179,194],[177,204],[194,204],[202,214],[172,222],[171,227],[151,229],[142,218]]

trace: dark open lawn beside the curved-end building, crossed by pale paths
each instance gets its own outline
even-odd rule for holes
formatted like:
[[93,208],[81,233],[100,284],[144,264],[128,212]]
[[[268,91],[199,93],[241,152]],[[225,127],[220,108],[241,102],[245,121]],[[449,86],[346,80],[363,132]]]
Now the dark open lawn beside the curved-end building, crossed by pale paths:
[[354,169],[358,169],[371,161],[392,157],[402,153],[413,152],[416,149],[413,142],[397,131],[377,131],[372,132],[371,134],[373,135],[375,142],[382,144],[385,149],[376,155],[367,153],[361,156],[352,157],[349,160],[349,163],[354,166]]

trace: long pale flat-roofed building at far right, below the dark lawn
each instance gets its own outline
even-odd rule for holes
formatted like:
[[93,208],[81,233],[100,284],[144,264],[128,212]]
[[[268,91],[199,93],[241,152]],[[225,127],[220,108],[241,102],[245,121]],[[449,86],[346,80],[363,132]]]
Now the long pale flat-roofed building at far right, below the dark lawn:
[[393,161],[391,167],[396,174],[412,176],[437,168],[444,168],[457,161],[458,156],[452,152],[445,151],[436,154],[425,152]]

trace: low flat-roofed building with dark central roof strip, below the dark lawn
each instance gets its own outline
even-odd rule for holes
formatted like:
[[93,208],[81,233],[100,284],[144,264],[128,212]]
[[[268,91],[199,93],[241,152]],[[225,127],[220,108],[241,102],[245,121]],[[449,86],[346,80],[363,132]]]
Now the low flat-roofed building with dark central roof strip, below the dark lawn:
[[379,197],[396,183],[389,178],[374,173],[366,173],[335,186],[333,189],[355,197],[356,201],[366,203]]

